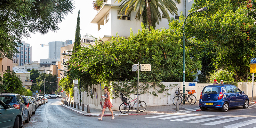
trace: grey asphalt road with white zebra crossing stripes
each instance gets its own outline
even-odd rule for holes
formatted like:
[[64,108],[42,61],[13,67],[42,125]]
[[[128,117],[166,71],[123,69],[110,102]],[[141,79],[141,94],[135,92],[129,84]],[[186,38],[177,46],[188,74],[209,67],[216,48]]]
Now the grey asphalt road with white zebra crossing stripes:
[[40,106],[24,128],[256,128],[256,104],[248,109],[230,108],[228,112],[220,109],[175,114],[130,115],[99,117],[81,116],[59,103],[60,99],[50,99]]

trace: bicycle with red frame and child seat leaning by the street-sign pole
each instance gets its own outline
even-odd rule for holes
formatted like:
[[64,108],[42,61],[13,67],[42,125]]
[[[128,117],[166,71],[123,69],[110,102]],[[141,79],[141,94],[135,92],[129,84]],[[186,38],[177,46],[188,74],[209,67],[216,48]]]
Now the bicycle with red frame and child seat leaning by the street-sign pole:
[[[134,94],[134,95],[137,95],[137,94]],[[139,94],[140,95],[140,94]],[[119,106],[119,111],[121,112],[121,113],[127,113],[127,112],[129,112],[130,111],[130,109],[132,109],[133,110],[133,108],[135,108],[135,110],[137,110],[137,98],[136,99],[134,99],[134,100],[132,100],[132,101],[134,101],[134,103],[133,103],[133,105],[131,105],[131,102],[130,102],[130,99],[127,99],[127,98],[125,98],[124,97],[124,94],[123,93],[121,93],[121,100],[123,101],[123,103],[122,104],[120,104],[120,106]],[[128,102],[127,102],[128,101]],[[134,106],[135,105],[135,106]],[[146,104],[146,102],[144,102],[144,101],[140,101],[139,100],[139,111],[140,112],[143,112],[143,111],[145,111],[146,110],[146,108],[147,108],[147,104]]]

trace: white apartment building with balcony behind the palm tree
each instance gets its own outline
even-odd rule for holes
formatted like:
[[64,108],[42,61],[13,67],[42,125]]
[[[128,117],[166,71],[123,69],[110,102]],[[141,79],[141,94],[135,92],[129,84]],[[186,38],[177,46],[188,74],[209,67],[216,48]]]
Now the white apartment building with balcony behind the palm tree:
[[[178,14],[183,12],[184,15],[187,15],[190,10],[193,0],[181,0],[180,4],[178,4],[175,0],[178,8]],[[132,12],[129,16],[124,16],[124,20],[119,20],[121,14],[118,14],[119,4],[116,0],[106,0],[106,2],[102,5],[100,11],[93,18],[91,23],[98,24],[98,34],[103,41],[108,41],[112,36],[123,36],[128,37],[130,35],[130,28],[132,28],[133,34],[138,32],[138,29],[141,29],[141,21],[135,19],[135,12]],[[184,13],[186,12],[186,13]],[[175,15],[171,15],[170,17],[175,17]],[[159,25],[156,24],[156,29],[158,28],[168,28],[168,20],[162,18],[162,21]]]

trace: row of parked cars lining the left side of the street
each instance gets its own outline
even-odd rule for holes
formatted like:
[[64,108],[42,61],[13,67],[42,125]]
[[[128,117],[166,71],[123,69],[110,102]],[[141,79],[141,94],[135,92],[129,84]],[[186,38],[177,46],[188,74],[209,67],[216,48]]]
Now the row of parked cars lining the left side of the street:
[[21,96],[20,94],[0,94],[0,126],[4,128],[20,128],[23,122],[29,123],[36,109],[48,103],[44,96]]

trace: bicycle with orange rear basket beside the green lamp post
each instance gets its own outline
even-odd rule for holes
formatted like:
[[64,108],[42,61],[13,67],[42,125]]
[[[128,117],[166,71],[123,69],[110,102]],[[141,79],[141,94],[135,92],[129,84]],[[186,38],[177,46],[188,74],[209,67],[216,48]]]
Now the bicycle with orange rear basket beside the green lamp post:
[[[196,93],[195,90],[191,90],[191,91],[186,90],[186,92],[188,92],[188,94],[187,94],[187,93],[180,93],[180,91],[182,91],[182,90],[179,90],[179,88],[178,88],[178,90],[174,91],[177,95],[172,99],[172,103],[174,105],[176,105],[177,101],[178,101],[179,105],[181,104],[182,101],[185,101],[185,102],[188,101],[189,104],[195,104],[196,103],[196,96],[193,95],[193,93]],[[183,94],[185,94],[185,97],[183,97]]]

